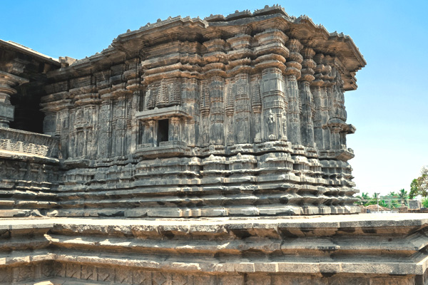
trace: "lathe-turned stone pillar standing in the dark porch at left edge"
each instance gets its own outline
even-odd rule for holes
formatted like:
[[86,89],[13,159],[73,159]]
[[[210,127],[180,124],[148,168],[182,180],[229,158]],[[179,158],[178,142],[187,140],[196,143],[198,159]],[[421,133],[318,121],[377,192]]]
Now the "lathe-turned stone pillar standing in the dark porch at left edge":
[[11,105],[11,95],[16,94],[15,86],[29,81],[19,76],[0,71],[0,127],[9,128],[14,120],[14,106]]

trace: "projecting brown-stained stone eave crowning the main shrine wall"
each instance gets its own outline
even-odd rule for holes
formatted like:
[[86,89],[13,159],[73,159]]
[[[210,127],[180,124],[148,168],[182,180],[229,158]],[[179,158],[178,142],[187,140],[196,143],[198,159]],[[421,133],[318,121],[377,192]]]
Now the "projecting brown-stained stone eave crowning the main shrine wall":
[[[139,57],[146,60],[153,46],[166,43],[205,43],[215,39],[228,40],[237,35],[254,36],[267,29],[275,28],[285,33],[288,38],[296,38],[305,47],[315,53],[337,58],[344,81],[344,90],[355,90],[355,73],[366,65],[366,61],[350,36],[343,33],[329,33],[322,25],[316,25],[308,16],[288,16],[280,6],[266,6],[264,9],[236,11],[228,16],[210,15],[205,19],[174,18],[141,26],[136,31],[128,30],[113,40],[111,46],[88,58],[83,58],[58,71],[52,71],[49,77],[61,79],[78,71],[79,75],[101,71],[108,66],[120,63],[124,59]],[[257,46],[257,43],[255,43]],[[227,47],[226,47],[227,48]],[[254,47],[250,47],[254,48]],[[195,53],[203,55],[205,46],[195,48]],[[252,59],[256,54],[248,53]]]

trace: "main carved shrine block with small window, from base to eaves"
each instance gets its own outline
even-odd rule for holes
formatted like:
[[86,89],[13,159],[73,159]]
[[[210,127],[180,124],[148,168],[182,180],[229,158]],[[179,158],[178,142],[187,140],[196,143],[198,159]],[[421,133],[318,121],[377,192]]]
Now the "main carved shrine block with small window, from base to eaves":
[[348,214],[345,90],[364,58],[278,6],[128,31],[47,73],[66,165],[51,214]]

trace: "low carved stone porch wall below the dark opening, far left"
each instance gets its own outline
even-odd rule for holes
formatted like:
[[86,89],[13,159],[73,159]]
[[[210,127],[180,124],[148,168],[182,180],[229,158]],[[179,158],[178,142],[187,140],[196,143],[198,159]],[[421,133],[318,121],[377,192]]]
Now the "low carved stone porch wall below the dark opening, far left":
[[0,217],[41,216],[58,207],[58,140],[0,128]]

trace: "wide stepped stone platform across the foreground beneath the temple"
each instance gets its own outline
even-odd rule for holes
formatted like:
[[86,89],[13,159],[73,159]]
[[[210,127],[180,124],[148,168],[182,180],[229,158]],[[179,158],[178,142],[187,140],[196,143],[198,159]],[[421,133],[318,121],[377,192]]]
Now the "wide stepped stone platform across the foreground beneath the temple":
[[1,284],[427,284],[428,214],[1,219]]

